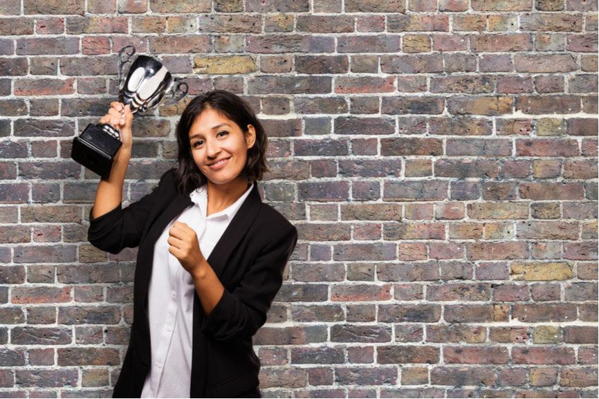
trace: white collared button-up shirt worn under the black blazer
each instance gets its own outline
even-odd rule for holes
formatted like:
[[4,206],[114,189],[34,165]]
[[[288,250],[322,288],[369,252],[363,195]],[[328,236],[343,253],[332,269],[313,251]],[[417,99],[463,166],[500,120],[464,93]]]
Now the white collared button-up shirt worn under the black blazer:
[[151,367],[142,398],[190,397],[195,286],[190,273],[169,252],[169,229],[174,221],[187,223],[208,259],[253,187],[254,183],[229,207],[208,217],[206,185],[194,190],[190,194],[194,204],[176,216],[156,241],[148,290]]

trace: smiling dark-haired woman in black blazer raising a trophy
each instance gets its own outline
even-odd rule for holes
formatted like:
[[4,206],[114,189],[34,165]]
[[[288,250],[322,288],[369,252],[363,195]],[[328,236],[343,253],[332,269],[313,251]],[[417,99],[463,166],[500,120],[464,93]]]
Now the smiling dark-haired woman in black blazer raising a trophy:
[[122,147],[89,212],[88,239],[117,254],[138,247],[133,323],[114,398],[260,398],[252,335],[282,285],[297,229],[262,203],[267,139],[250,106],[215,90],[187,105],[178,165],[122,208],[131,158],[129,105],[100,122]]

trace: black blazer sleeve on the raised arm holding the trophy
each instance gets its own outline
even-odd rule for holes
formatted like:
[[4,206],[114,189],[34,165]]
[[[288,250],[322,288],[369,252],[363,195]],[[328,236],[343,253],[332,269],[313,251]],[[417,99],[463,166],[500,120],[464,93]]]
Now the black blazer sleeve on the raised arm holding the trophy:
[[88,241],[96,248],[111,254],[118,254],[125,247],[136,248],[140,244],[147,217],[168,172],[160,177],[160,183],[149,194],[125,208],[120,203],[113,210],[95,219],[91,207]]

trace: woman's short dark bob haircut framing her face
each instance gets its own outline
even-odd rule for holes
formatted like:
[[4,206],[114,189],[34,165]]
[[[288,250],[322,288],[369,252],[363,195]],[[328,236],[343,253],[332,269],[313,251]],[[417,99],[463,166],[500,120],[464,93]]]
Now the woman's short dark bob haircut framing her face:
[[252,183],[255,180],[261,180],[262,175],[270,171],[266,165],[266,148],[268,147],[266,132],[248,102],[230,91],[208,91],[197,95],[187,104],[176,127],[178,168],[175,184],[181,194],[190,194],[194,189],[208,183],[208,178],[194,162],[190,145],[192,124],[202,111],[208,108],[214,109],[225,118],[235,122],[244,134],[248,132],[248,124],[255,128],[255,143],[248,149],[246,166],[239,175]]

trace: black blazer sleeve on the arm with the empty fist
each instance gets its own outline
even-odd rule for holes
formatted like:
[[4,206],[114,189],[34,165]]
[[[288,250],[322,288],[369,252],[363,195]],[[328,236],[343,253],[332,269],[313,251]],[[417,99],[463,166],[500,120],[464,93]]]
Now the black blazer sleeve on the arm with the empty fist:
[[239,342],[251,337],[266,322],[270,304],[283,284],[283,272],[297,243],[297,228],[287,225],[266,245],[230,293],[226,288],[209,315],[202,333],[214,340]]

